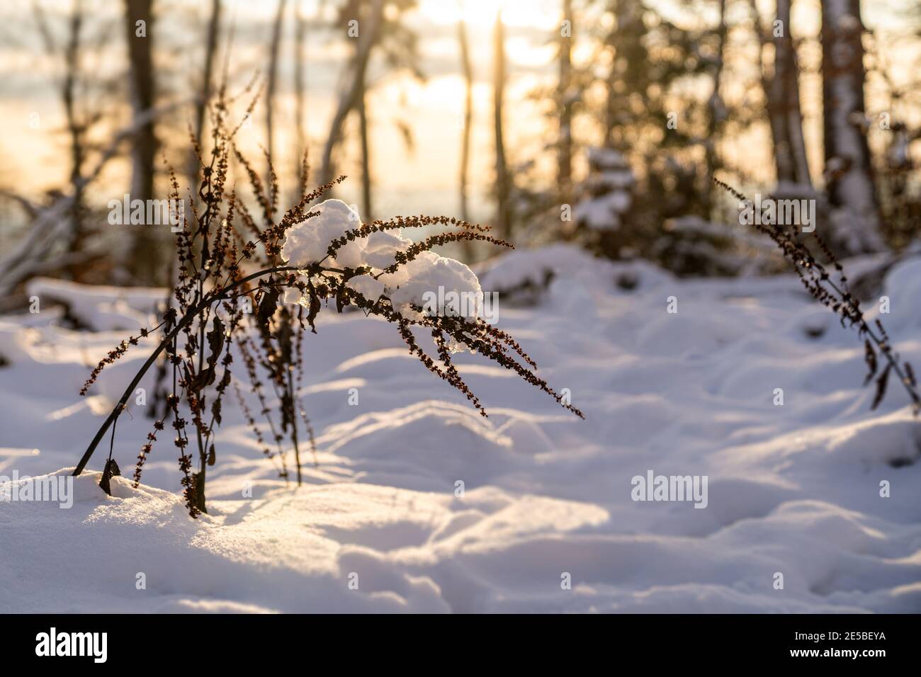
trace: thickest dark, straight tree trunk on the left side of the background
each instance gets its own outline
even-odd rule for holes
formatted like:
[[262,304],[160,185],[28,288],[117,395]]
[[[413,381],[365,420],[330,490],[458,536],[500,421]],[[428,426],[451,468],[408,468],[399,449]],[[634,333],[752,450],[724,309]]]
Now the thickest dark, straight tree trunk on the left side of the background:
[[[154,106],[156,96],[153,58],[153,0],[125,0],[125,39],[128,45],[128,62],[131,64],[131,106],[134,116]],[[143,31],[138,21],[144,21]],[[134,134],[131,148],[132,180],[131,199],[152,200],[154,198],[154,163],[157,155],[157,136],[154,121],[141,126]],[[126,227],[127,228],[127,227]],[[153,224],[143,224],[137,230],[129,231],[131,249],[129,266],[134,279],[146,285],[162,282],[158,280],[161,268],[157,260],[160,235]]]

